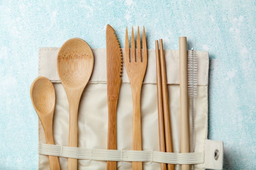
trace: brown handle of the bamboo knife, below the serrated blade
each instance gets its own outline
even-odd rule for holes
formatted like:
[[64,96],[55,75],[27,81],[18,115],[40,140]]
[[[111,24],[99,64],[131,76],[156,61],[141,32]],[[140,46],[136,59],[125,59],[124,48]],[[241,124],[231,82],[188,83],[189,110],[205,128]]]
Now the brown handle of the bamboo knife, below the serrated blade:
[[[117,149],[117,100],[108,97],[108,149]],[[107,170],[116,170],[116,161],[107,161]]]

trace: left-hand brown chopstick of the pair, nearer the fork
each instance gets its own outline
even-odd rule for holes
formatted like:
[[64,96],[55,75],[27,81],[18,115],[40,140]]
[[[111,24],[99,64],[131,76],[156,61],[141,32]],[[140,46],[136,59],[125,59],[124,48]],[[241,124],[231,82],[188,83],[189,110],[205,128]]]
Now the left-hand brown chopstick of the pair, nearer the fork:
[[[164,131],[164,111],[161,82],[161,68],[159,58],[159,46],[156,40],[156,70],[157,70],[157,107],[158,107],[158,130],[159,130],[159,151],[165,152],[165,131]],[[161,163],[161,170],[166,170],[166,164]]]

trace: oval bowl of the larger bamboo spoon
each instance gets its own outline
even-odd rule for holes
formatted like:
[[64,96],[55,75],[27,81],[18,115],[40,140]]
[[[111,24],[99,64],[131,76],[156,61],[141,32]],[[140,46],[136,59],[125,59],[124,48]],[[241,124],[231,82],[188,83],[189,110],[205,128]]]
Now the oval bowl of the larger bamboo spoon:
[[84,89],[91,76],[93,64],[92,50],[84,40],[67,40],[60,48],[57,58],[57,69],[64,88]]

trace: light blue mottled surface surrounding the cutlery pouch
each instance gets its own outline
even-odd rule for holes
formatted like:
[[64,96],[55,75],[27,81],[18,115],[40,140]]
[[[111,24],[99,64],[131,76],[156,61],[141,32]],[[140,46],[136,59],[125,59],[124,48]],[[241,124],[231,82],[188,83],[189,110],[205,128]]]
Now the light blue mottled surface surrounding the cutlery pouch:
[[38,47],[80,37],[105,48],[105,27],[124,47],[125,27],[144,25],[148,48],[209,51],[209,139],[224,141],[224,169],[256,168],[256,4],[247,1],[0,1],[0,169],[36,169],[37,115],[29,88]]

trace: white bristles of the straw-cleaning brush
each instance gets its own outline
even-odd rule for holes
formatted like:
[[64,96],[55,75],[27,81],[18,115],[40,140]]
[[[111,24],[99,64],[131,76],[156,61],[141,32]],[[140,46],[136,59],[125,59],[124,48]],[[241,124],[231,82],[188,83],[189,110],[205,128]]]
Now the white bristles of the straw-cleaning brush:
[[188,92],[189,96],[197,96],[197,54],[193,48],[188,55]]

